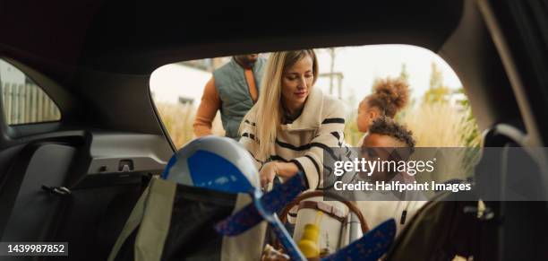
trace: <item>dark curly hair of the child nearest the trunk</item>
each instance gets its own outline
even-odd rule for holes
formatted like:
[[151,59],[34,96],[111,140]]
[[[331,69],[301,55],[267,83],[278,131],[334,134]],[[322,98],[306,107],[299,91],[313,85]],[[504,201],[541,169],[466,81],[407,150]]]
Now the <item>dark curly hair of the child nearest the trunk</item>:
[[369,127],[369,134],[389,135],[398,141],[407,144],[411,149],[411,152],[415,151],[413,133],[390,117],[376,118]]

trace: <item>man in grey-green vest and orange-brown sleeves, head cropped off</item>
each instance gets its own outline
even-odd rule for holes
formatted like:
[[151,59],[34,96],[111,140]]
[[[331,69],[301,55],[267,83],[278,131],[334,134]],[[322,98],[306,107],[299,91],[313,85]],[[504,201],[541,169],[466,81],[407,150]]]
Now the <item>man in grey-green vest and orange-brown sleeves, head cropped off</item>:
[[240,139],[238,129],[242,118],[259,98],[259,83],[266,59],[258,54],[235,56],[213,71],[201,96],[194,120],[194,135],[211,135],[211,123],[220,110],[226,136]]

